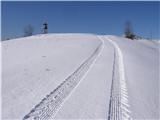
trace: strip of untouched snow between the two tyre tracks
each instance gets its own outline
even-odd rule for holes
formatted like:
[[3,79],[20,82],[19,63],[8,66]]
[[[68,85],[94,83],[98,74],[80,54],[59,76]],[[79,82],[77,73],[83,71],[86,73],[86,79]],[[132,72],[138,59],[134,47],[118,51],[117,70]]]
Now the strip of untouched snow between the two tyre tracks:
[[106,119],[108,117],[112,53],[113,46],[106,43],[92,69],[76,87],[74,94],[65,101],[54,119]]

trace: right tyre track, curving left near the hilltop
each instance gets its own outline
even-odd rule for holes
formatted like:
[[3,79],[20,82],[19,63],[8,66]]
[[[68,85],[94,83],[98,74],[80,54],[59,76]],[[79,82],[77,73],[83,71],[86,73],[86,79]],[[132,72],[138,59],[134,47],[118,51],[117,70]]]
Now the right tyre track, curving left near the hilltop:
[[108,120],[132,120],[125,79],[123,54],[116,42],[106,38],[114,46],[114,62]]

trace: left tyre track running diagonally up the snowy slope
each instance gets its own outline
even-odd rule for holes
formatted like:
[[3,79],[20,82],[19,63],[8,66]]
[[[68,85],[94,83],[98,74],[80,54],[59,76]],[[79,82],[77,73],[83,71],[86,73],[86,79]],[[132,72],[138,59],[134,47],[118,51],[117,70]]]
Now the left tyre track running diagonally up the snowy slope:
[[69,97],[94,64],[103,46],[104,43],[100,43],[92,55],[55,90],[46,95],[39,104],[24,116],[23,120],[47,120],[54,117],[67,97]]

